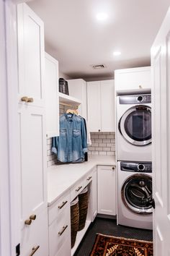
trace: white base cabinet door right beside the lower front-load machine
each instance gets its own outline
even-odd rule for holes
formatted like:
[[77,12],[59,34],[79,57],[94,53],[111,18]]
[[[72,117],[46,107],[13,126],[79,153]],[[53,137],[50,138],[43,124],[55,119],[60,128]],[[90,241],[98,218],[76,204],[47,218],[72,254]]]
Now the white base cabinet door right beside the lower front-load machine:
[[97,166],[98,213],[116,215],[115,166]]

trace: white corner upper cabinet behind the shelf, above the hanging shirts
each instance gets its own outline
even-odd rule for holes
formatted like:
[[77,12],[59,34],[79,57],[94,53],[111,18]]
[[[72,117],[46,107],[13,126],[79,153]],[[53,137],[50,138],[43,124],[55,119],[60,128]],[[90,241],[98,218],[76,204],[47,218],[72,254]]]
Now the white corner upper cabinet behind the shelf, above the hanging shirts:
[[81,100],[79,114],[86,119],[86,81],[83,79],[73,79],[68,81],[69,95]]

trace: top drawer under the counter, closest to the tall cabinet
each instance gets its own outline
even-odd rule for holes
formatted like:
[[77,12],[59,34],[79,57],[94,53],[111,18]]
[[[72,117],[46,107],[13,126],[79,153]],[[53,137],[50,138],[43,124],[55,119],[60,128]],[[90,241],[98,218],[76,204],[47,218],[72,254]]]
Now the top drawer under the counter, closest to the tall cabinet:
[[59,220],[62,216],[67,215],[69,208],[70,195],[67,193],[48,207],[48,225],[50,225],[55,218]]

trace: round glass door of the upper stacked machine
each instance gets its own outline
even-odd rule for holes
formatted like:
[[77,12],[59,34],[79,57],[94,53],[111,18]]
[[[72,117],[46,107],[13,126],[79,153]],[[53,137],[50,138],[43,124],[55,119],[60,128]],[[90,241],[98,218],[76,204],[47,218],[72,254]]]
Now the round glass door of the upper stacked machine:
[[151,143],[151,108],[133,106],[119,121],[122,136],[133,145],[144,146]]

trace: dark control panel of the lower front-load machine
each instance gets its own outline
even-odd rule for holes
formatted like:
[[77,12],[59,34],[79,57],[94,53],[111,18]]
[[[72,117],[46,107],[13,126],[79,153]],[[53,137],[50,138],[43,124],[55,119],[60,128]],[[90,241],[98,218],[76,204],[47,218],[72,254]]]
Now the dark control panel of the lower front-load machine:
[[132,171],[132,172],[152,172],[151,162],[120,162],[121,171]]

